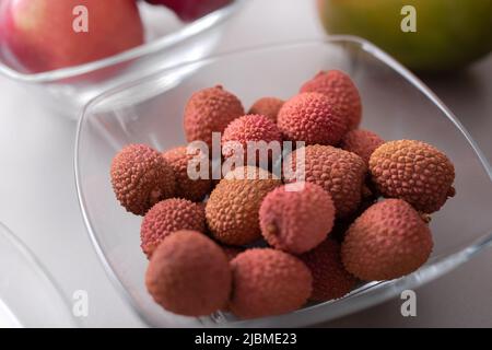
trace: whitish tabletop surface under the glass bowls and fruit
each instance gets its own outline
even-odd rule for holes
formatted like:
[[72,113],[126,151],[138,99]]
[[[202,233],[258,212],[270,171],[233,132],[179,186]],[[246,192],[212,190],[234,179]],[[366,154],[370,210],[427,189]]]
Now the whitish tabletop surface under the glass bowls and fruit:
[[[323,36],[314,12],[307,0],[250,0],[231,24],[220,50]],[[431,83],[489,159],[491,67],[489,57],[466,79]],[[43,109],[21,85],[2,78],[0,106],[0,221],[37,254],[69,298],[75,290],[89,292],[84,325],[140,326],[106,278],[82,223],[72,168],[75,124]],[[489,250],[419,289],[415,318],[401,317],[400,301],[395,300],[327,326],[490,327],[491,259]]]

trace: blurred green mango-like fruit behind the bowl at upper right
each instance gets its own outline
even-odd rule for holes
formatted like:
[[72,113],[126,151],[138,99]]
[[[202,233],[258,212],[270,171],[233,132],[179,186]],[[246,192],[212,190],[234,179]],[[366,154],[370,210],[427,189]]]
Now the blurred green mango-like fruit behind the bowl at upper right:
[[[417,11],[417,32],[401,31],[403,5]],[[352,34],[417,71],[465,67],[492,49],[492,0],[318,0],[331,34]]]

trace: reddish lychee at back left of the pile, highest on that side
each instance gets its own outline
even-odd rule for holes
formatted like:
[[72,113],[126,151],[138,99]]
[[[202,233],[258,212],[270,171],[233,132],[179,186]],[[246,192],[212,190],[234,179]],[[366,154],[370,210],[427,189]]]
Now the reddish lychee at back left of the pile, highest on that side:
[[221,85],[196,92],[185,107],[185,133],[188,142],[201,140],[212,147],[212,132],[223,132],[244,115],[241,101]]

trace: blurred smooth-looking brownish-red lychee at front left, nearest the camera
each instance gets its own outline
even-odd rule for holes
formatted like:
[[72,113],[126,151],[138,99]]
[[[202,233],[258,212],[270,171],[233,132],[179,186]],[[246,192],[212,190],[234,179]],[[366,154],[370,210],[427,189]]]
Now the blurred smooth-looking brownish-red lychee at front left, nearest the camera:
[[222,249],[196,231],[168,236],[150,260],[145,284],[156,303],[185,316],[204,316],[223,308],[232,273]]

